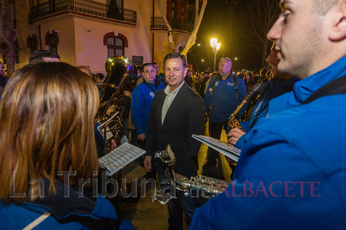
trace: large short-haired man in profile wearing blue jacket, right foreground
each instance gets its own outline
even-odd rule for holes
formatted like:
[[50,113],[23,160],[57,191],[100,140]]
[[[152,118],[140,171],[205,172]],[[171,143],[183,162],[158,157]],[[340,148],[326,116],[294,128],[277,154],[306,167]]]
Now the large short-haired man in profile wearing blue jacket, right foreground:
[[301,80],[238,140],[233,182],[190,229],[346,229],[346,0],[280,4],[268,38]]

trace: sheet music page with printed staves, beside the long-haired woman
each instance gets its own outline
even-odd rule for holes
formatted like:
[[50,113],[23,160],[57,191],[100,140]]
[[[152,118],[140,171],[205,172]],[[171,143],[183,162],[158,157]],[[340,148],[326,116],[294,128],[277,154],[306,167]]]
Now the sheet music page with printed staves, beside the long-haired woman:
[[107,155],[99,158],[99,167],[105,167],[107,169],[107,176],[112,176],[145,153],[145,150],[125,142]]

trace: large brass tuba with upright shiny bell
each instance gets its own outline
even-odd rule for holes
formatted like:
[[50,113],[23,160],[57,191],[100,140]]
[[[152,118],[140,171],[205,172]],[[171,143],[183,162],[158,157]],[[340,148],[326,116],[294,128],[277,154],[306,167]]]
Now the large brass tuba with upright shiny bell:
[[[124,126],[121,118],[124,112],[124,107],[121,106],[124,98],[121,86],[125,82],[133,82],[136,79],[137,67],[127,57],[113,56],[106,62],[106,72],[109,78],[106,84],[102,84],[103,88],[100,105],[96,113],[96,120],[99,123],[104,123],[115,113],[119,112],[117,119],[110,121],[105,127],[108,127],[109,130],[107,132],[111,132],[112,138],[115,139],[117,146],[120,146],[120,130]],[[110,151],[109,142],[105,139],[105,153],[107,154]]]

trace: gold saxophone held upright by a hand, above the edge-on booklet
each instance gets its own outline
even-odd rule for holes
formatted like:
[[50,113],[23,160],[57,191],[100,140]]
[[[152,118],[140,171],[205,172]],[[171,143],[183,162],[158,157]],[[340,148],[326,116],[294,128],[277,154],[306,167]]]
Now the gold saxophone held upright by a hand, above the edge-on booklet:
[[[233,129],[233,128],[238,128],[240,130],[242,130],[244,132],[243,127],[239,124],[239,121],[237,119],[235,119],[235,117],[237,116],[238,112],[240,109],[242,109],[244,107],[244,105],[253,97],[255,96],[256,91],[258,90],[258,88],[260,88],[261,84],[257,83],[255,84],[252,89],[249,89],[247,91],[247,94],[244,98],[244,100],[242,101],[242,103],[239,104],[239,106],[237,107],[237,109],[231,114],[231,116],[229,116],[229,121],[228,121],[228,132],[229,130]],[[226,157],[226,156],[225,156]],[[237,165],[237,162],[235,162],[234,160],[230,159],[229,157],[226,157],[226,160],[228,161],[228,163],[233,164],[234,166]],[[233,169],[232,169],[233,170]]]

